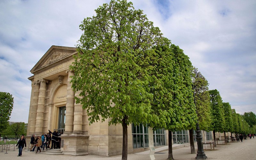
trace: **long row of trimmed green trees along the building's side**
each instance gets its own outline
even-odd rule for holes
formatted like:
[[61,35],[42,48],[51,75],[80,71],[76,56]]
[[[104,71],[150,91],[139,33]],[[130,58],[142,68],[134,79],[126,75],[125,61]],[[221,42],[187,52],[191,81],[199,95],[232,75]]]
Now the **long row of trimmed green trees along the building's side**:
[[[197,120],[203,130],[230,131],[231,112],[225,118],[219,92],[208,91],[207,80],[188,56],[142,10],[126,0],[111,0],[95,12],[79,26],[83,34],[70,66],[75,73],[72,88],[80,93],[75,99],[86,109],[90,124],[122,124],[122,160],[127,159],[127,126],[132,123],[168,130],[168,159],[173,159],[172,132],[193,132]],[[196,78],[196,106],[191,76]]]

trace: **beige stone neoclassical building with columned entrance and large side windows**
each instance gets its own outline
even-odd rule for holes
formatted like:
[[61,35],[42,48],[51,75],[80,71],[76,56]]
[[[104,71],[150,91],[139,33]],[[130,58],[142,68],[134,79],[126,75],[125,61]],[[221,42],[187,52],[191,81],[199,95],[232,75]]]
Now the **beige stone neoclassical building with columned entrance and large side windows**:
[[[121,124],[108,125],[95,122],[89,125],[88,116],[80,104],[76,104],[71,88],[74,73],[69,66],[77,54],[74,47],[52,46],[31,69],[33,76],[28,116],[28,139],[47,133],[48,129],[59,131],[61,151],[68,155],[96,154],[114,156],[122,154],[123,129]],[[173,132],[173,143],[189,143],[188,131]],[[212,140],[210,132],[205,134]],[[29,143],[29,140],[27,141]],[[168,145],[168,131],[154,131],[154,146]],[[128,126],[128,153],[148,149],[148,127],[139,124]]]

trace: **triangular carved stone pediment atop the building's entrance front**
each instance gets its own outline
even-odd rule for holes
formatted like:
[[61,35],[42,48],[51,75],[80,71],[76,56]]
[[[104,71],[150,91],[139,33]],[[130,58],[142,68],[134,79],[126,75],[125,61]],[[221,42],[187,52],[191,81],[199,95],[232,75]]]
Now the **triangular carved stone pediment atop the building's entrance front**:
[[75,47],[63,47],[55,46],[52,47],[44,54],[44,56],[36,63],[36,65],[30,70],[32,74],[39,70],[44,70],[56,65],[60,61],[72,57],[76,54]]

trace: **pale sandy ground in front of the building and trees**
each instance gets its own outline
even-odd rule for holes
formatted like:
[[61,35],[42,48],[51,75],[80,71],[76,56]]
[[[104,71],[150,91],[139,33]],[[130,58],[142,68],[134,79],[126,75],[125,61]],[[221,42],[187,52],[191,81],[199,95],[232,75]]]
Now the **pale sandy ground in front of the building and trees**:
[[[177,145],[175,145],[177,146]],[[196,145],[195,145],[196,146]],[[204,145],[205,147],[205,145]],[[207,146],[207,150],[205,149],[205,155],[208,159],[211,160],[256,160],[256,138],[255,139],[247,139],[243,140],[243,142],[230,142],[228,145],[218,145],[215,150],[208,150],[210,146]],[[167,146],[157,148],[155,153],[156,160],[164,160],[168,157],[168,149]],[[197,148],[196,148],[197,150]],[[87,156],[68,156],[68,155],[48,155],[34,152],[24,151],[22,152],[21,157],[17,157],[18,149],[13,151],[13,147],[10,150],[7,150],[8,154],[1,152],[2,148],[0,148],[0,160],[28,160],[28,159],[36,159],[36,160],[45,160],[45,159],[56,159],[56,160],[121,160],[121,155],[119,156],[96,156],[96,155],[87,155]],[[183,147],[173,150],[173,157],[176,160],[192,160],[195,159],[196,154],[190,154],[190,147]],[[148,151],[140,152],[136,154],[129,154],[128,160],[150,160],[148,156]]]

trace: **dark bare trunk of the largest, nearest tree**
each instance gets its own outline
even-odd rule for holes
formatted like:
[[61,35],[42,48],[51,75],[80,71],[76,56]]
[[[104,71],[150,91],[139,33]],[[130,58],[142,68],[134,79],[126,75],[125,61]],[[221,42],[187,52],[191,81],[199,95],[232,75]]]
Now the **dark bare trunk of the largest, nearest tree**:
[[127,119],[127,116],[124,116],[124,119],[122,120],[122,126],[123,126],[122,160],[127,160],[127,155],[128,155],[128,131],[127,131],[127,124],[125,122],[126,119]]

